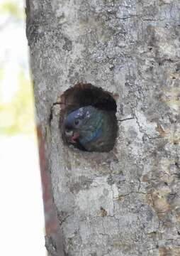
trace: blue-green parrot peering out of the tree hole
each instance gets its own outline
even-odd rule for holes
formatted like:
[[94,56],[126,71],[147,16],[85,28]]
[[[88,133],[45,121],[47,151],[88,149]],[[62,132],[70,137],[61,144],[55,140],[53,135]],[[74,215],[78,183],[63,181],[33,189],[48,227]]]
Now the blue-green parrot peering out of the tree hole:
[[118,124],[113,111],[79,107],[67,114],[63,125],[67,142],[84,151],[111,151],[116,142]]

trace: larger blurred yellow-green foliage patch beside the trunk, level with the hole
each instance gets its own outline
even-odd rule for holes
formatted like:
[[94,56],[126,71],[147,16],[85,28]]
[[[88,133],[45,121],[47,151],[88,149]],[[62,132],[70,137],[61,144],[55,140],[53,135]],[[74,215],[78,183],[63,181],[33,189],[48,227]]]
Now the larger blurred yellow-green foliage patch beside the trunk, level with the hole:
[[21,72],[18,82],[19,89],[13,95],[11,102],[0,103],[0,132],[9,135],[17,133],[32,134],[34,130],[34,109],[30,80],[27,80]]

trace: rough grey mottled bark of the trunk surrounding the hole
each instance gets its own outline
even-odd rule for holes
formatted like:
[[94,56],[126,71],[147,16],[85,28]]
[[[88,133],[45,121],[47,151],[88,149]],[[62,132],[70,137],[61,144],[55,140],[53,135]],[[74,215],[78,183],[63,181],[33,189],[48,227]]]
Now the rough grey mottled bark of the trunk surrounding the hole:
[[[180,255],[179,0],[31,0],[35,104],[65,255]],[[62,142],[62,93],[118,94],[110,153]],[[60,254],[59,254],[60,255]]]

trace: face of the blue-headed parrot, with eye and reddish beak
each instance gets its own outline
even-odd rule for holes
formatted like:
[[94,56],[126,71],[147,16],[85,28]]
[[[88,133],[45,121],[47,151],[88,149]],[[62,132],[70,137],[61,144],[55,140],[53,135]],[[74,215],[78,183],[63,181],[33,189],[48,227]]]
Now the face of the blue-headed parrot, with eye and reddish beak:
[[89,111],[84,110],[83,107],[67,115],[64,120],[64,134],[68,142],[77,143],[77,139],[81,137],[81,129],[87,119],[89,119]]

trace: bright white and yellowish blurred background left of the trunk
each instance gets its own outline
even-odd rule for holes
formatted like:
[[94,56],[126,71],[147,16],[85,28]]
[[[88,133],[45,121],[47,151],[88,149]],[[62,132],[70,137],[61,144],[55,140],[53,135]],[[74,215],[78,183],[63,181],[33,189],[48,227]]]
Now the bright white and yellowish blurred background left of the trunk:
[[45,255],[23,0],[0,0],[1,255]]

